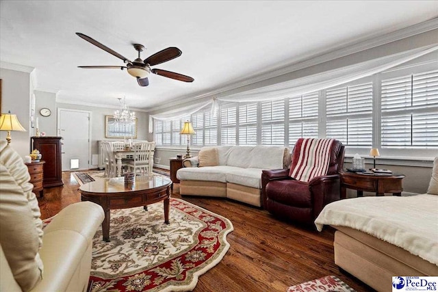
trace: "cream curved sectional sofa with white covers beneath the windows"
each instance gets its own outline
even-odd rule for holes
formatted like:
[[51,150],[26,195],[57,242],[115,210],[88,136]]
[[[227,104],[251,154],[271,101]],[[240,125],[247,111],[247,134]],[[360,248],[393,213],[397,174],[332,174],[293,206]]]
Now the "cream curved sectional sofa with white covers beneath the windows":
[[290,151],[283,146],[203,147],[177,172],[180,194],[231,198],[261,207],[261,170],[285,168],[288,163]]

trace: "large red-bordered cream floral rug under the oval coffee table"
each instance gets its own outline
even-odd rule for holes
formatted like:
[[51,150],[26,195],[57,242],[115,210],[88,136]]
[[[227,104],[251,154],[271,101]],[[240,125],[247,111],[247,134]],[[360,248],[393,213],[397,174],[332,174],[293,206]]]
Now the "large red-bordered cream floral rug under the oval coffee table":
[[111,210],[111,241],[101,229],[93,239],[89,292],[190,291],[220,262],[233,224],[184,200],[171,198],[170,206],[168,225],[162,202]]

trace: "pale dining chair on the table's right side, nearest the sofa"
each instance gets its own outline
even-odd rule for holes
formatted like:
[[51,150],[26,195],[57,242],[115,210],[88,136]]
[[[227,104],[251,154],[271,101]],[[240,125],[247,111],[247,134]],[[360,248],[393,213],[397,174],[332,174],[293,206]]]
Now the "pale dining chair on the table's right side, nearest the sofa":
[[153,152],[155,142],[136,142],[133,144],[134,159],[127,163],[129,171],[137,172],[140,170],[141,175],[152,175]]

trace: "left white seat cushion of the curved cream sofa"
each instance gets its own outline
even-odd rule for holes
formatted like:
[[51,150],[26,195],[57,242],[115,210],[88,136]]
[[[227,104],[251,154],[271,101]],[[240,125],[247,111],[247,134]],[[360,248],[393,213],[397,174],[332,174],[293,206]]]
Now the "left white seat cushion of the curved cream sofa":
[[236,170],[233,166],[218,165],[205,168],[180,168],[177,178],[180,181],[218,181],[227,183],[227,172]]

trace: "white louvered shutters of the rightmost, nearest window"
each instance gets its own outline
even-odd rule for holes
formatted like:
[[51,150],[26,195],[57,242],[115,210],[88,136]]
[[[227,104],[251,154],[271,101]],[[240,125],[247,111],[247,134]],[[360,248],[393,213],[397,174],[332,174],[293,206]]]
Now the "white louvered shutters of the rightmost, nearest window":
[[438,70],[382,81],[382,146],[438,148]]

